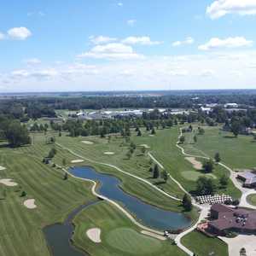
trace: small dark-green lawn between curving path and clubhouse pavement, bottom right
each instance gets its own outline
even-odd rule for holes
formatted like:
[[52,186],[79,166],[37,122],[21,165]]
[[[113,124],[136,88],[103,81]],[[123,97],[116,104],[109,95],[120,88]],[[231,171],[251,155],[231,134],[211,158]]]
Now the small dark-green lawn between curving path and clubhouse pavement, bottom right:
[[215,255],[228,256],[228,246],[218,238],[208,237],[194,230],[183,236],[182,244],[198,256]]

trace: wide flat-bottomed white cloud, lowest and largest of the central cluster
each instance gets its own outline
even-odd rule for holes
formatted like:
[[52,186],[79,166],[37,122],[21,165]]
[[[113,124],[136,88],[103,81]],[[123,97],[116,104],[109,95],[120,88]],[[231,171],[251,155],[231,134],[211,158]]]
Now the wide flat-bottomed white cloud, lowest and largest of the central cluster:
[[131,46],[111,43],[104,45],[96,45],[90,51],[78,55],[78,57],[90,57],[95,59],[138,59],[142,55],[138,55]]

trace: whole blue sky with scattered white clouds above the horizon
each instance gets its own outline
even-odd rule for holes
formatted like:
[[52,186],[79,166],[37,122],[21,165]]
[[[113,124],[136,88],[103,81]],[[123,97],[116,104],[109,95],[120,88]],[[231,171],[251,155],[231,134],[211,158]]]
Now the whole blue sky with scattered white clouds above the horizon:
[[256,88],[256,0],[0,4],[0,92]]

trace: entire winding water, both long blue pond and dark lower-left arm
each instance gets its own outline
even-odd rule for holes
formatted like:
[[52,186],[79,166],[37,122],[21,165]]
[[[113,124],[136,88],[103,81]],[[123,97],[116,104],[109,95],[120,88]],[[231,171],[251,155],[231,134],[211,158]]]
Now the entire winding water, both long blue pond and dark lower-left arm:
[[[88,166],[73,167],[69,170],[76,177],[83,177],[101,183],[97,192],[101,195],[119,202],[126,210],[136,216],[137,220],[145,226],[156,230],[177,230],[190,225],[189,218],[182,213],[171,212],[149,205],[137,197],[125,193],[120,188],[121,181],[117,177],[96,172]],[[99,200],[91,201],[71,212],[63,224],[53,224],[44,228],[49,251],[54,256],[85,256],[88,253],[73,247],[73,218],[84,208],[96,204]],[[85,242],[85,241],[84,241]]]

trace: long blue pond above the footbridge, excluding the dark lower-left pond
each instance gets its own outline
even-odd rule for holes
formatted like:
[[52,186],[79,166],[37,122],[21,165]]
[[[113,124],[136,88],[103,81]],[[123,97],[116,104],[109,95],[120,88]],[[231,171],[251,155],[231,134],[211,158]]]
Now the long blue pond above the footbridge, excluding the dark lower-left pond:
[[96,172],[88,166],[76,166],[69,170],[76,177],[84,177],[101,183],[97,192],[101,195],[120,202],[128,212],[136,216],[142,224],[156,230],[177,230],[191,224],[183,213],[171,212],[154,207],[139,200],[137,197],[125,193],[120,188],[121,181],[117,177]]

